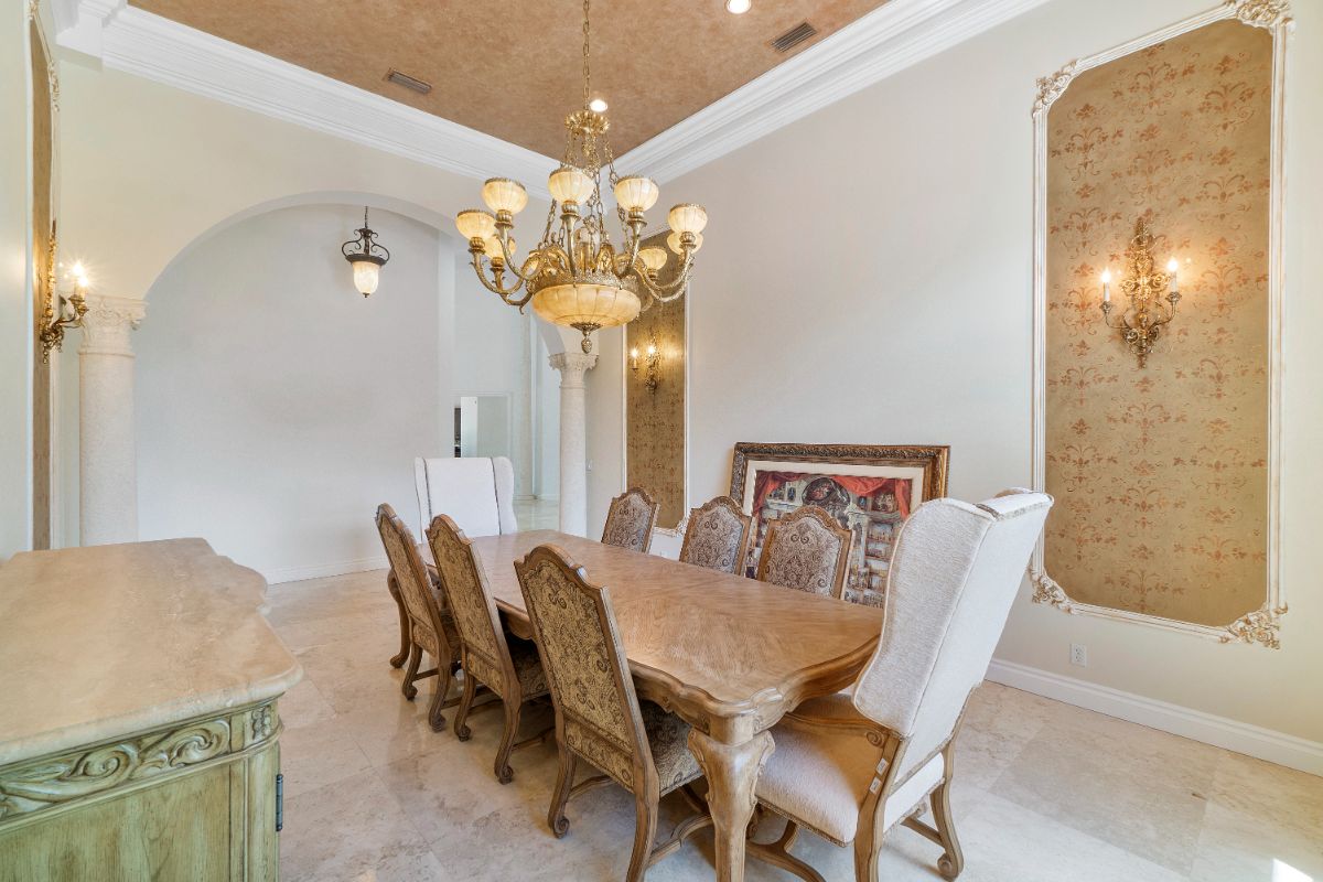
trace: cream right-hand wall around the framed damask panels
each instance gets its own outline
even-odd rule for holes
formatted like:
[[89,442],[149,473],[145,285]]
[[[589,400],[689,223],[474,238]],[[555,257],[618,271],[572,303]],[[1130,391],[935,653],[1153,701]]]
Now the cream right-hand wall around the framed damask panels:
[[[1056,0],[665,182],[712,218],[689,303],[691,499],[726,492],[737,440],[949,443],[951,495],[1025,484],[1035,78],[1209,5]],[[1323,742],[1323,4],[1293,9],[1282,649],[1066,616],[1025,591],[998,659]],[[602,349],[594,524],[619,488],[619,354]],[[1089,668],[1068,664],[1072,641]]]

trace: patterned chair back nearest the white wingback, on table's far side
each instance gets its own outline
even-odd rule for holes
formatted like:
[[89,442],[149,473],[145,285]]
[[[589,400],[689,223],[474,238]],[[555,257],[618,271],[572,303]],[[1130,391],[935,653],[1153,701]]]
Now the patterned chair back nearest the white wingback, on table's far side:
[[841,596],[855,534],[827,509],[804,505],[767,528],[758,581],[830,598]]

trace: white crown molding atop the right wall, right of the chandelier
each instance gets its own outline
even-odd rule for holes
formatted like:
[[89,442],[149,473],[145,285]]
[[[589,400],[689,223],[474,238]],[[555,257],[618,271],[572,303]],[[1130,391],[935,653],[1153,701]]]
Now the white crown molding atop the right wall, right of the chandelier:
[[665,182],[1046,0],[890,0],[617,160]]

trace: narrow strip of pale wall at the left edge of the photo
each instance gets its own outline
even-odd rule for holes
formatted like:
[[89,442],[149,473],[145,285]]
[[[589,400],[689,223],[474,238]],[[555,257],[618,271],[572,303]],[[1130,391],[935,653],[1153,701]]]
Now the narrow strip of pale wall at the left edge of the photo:
[[28,4],[0,12],[0,561],[32,546],[32,90]]

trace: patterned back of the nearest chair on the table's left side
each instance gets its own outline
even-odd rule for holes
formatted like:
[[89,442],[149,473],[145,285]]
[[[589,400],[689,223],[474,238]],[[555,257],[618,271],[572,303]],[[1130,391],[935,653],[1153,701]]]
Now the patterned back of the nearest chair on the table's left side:
[[[566,747],[628,789],[652,763],[606,588],[554,545],[515,563]],[[654,772],[655,774],[655,772]]]

